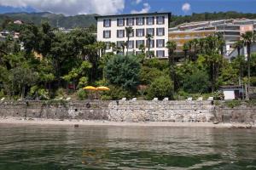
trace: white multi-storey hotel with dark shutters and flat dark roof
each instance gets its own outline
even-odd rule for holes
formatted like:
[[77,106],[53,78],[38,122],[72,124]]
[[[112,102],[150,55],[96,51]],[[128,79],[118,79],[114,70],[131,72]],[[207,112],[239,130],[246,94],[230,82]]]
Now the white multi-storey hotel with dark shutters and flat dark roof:
[[[133,33],[128,42],[128,53],[140,53],[139,46],[144,45],[148,50],[147,34],[153,36],[150,42],[150,51],[158,58],[166,58],[168,50],[168,25],[171,13],[149,14],[120,14],[96,16],[97,41],[107,42],[107,52],[111,52],[110,42],[115,42],[120,47],[122,42],[127,42],[125,27],[132,27]],[[125,48],[126,51],[126,48]]]

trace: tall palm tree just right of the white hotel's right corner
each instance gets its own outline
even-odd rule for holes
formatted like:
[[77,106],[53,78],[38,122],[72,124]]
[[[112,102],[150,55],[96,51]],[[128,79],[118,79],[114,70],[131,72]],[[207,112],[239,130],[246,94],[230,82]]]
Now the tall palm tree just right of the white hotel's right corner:
[[169,66],[170,66],[170,75],[172,77],[174,88],[176,87],[176,80],[175,80],[175,72],[174,72],[174,56],[173,53],[175,49],[177,48],[177,43],[174,41],[168,41],[166,42],[166,48],[168,49],[168,60],[169,60]]

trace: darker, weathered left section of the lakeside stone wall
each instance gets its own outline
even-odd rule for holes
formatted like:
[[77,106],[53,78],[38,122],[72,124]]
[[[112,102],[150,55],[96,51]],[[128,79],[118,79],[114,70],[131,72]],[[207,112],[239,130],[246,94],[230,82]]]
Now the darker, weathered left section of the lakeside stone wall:
[[28,101],[0,104],[0,116],[108,120],[107,101]]

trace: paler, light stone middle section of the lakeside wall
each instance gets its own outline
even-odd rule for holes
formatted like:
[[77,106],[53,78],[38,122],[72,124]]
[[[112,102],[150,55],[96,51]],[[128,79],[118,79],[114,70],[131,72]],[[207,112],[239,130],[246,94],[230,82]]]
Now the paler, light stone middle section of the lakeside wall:
[[108,106],[114,122],[212,122],[210,101],[118,101]]

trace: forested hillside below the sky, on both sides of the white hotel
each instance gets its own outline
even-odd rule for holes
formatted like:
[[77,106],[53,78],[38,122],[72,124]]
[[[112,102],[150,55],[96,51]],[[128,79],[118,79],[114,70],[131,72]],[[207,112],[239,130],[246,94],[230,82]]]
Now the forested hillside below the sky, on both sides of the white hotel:
[[[50,26],[75,28],[75,27],[88,27],[96,25],[95,16],[97,14],[79,14],[75,16],[65,16],[63,14],[44,13],[9,13],[0,14],[0,25],[3,26],[4,22],[10,20],[22,20],[26,23],[34,23],[40,25],[42,21],[48,21]],[[185,22],[201,21],[201,20],[222,20],[222,19],[236,19],[247,18],[256,19],[256,14],[243,14],[237,12],[219,12],[219,13],[202,13],[192,14],[186,16],[172,15],[170,26],[177,26]]]

